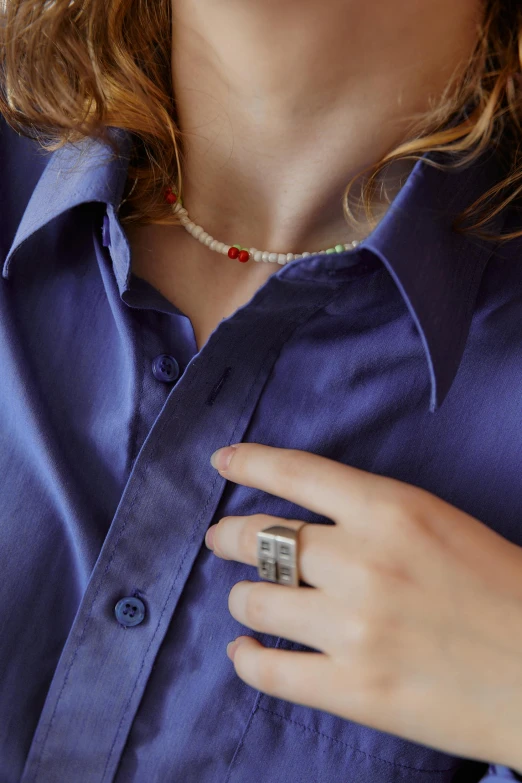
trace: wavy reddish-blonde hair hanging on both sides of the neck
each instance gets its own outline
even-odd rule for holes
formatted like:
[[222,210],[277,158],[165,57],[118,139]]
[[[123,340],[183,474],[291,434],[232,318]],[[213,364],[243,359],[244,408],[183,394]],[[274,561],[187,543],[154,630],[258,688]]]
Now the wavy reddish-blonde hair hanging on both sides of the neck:
[[[4,0],[0,112],[47,151],[94,137],[117,153],[108,129],[130,131],[122,222],[179,222],[163,198],[170,183],[183,195],[171,30],[171,0]],[[522,228],[503,235],[482,230],[522,190],[521,71],[522,3],[484,0],[477,43],[462,75],[415,118],[407,141],[350,180],[343,200],[347,221],[357,223],[349,195],[360,176],[366,175],[359,203],[375,225],[375,190],[388,165],[438,151],[447,154],[448,166],[464,166],[494,145],[503,178],[457,216],[454,228],[497,242],[522,236]]]

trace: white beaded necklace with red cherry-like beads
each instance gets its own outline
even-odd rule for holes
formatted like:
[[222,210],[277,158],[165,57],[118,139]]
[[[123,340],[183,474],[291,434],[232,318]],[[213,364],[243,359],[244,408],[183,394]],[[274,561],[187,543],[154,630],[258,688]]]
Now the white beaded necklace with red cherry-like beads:
[[289,264],[290,261],[295,261],[297,258],[306,258],[307,256],[325,255],[331,253],[344,253],[346,250],[352,250],[360,244],[358,239],[354,239],[345,245],[335,245],[335,247],[329,247],[327,250],[318,250],[315,253],[269,253],[266,250],[257,250],[255,247],[242,247],[241,245],[226,245],[224,242],[219,242],[214,237],[207,234],[207,232],[197,223],[194,223],[190,219],[189,214],[183,202],[178,198],[177,194],[171,187],[165,190],[165,201],[172,206],[172,211],[175,214],[180,215],[181,225],[202,245],[206,245],[209,250],[215,250],[217,253],[221,253],[229,258],[237,259],[242,264],[246,263],[250,258],[254,261],[265,261],[268,263],[277,264]]

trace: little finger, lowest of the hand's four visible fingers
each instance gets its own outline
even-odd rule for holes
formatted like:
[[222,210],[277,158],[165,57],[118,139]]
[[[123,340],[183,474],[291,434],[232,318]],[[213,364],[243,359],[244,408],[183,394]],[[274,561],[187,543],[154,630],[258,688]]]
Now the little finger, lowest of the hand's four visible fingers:
[[[326,683],[332,680],[329,656],[263,647],[250,636],[240,642],[234,668],[244,682],[275,698],[331,712],[331,691],[325,693]],[[338,684],[334,687],[338,689]]]

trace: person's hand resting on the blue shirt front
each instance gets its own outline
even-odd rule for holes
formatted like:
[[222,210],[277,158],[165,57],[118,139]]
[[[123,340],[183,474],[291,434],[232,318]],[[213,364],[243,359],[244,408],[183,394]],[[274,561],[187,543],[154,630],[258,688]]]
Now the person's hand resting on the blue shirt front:
[[[320,652],[241,636],[239,677],[280,699],[520,769],[522,548],[395,479],[257,443],[232,454],[225,478],[335,523],[299,532],[300,576],[311,587],[243,581],[229,594],[238,622]],[[207,536],[218,557],[256,566],[257,531],[274,524],[302,521],[224,517]]]

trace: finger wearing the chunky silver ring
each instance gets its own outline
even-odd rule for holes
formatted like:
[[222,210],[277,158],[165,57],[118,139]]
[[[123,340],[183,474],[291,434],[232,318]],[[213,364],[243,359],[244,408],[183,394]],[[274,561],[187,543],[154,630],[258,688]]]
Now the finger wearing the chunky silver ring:
[[257,568],[257,534],[272,525],[299,529],[298,570],[300,578],[313,587],[328,582],[338,547],[332,539],[334,526],[305,523],[269,514],[223,517],[212,530],[212,550],[224,560],[236,560]]

